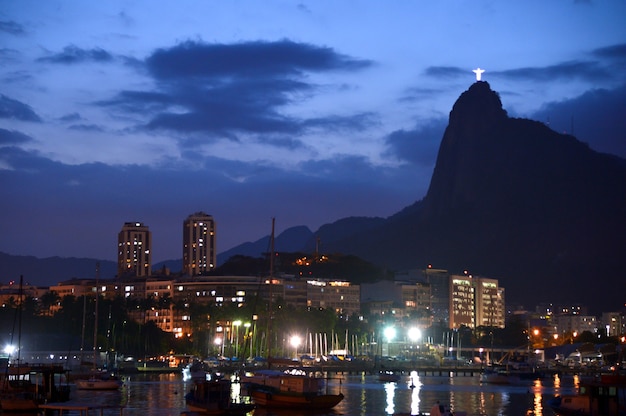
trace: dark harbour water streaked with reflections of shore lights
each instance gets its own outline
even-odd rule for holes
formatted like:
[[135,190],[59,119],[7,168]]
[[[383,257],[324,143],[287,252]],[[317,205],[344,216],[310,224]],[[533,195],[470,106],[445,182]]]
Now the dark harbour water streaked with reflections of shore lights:
[[[571,393],[576,380],[548,379],[534,384],[500,386],[481,384],[478,376],[411,378],[398,383],[381,383],[375,375],[338,375],[328,382],[331,392],[341,391],[345,398],[332,411],[311,413],[256,409],[254,416],[366,416],[416,415],[428,413],[439,400],[454,411],[475,415],[554,416],[546,400],[554,394]],[[411,383],[415,386],[411,388]],[[234,394],[239,384],[233,384]],[[90,405],[123,405],[126,416],[179,416],[186,410],[184,395],[190,382],[180,374],[131,375],[119,391],[72,391],[72,402]],[[92,412],[100,414],[100,412]],[[104,410],[104,415],[119,415],[119,410]]]

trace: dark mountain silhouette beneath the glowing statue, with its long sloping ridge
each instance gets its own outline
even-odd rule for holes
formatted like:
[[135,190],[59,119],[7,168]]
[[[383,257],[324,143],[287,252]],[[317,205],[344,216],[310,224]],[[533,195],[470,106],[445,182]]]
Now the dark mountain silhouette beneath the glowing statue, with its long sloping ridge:
[[[424,199],[388,218],[344,218],[315,232],[293,227],[275,247],[312,252],[318,239],[321,252],[387,270],[432,264],[497,278],[507,302],[617,309],[626,301],[626,160],[508,117],[498,94],[478,81],[450,112]],[[268,247],[269,236],[244,243],[220,253],[218,264]],[[0,260],[4,276],[7,258]]]

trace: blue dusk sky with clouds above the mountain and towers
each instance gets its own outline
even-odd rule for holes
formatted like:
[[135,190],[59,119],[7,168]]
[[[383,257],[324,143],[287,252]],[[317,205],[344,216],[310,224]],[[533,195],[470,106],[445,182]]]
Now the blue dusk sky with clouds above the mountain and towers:
[[626,158],[626,2],[0,0],[0,251],[153,261],[426,193],[475,82]]

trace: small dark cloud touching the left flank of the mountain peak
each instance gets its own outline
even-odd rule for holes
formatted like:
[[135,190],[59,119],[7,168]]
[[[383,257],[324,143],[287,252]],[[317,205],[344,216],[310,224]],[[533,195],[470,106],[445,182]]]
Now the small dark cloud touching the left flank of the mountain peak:
[[395,131],[386,138],[384,155],[432,168],[447,124],[445,119],[432,120],[414,130]]

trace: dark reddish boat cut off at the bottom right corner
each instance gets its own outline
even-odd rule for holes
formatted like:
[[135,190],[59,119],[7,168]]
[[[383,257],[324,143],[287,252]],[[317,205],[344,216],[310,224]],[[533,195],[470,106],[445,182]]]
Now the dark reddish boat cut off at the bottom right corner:
[[558,415],[626,414],[626,376],[603,374],[597,380],[581,383],[577,394],[554,396],[547,404]]

